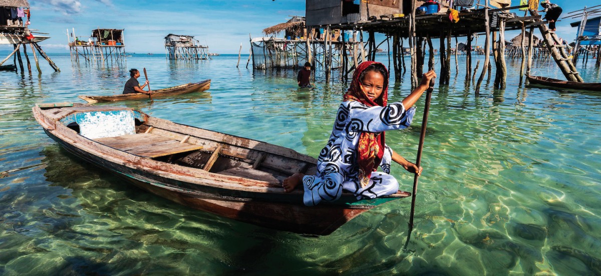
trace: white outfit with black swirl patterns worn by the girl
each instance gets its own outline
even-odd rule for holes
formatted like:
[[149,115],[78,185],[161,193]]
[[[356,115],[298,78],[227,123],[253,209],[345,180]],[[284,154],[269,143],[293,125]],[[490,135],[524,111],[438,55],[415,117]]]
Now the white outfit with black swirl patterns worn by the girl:
[[343,101],[338,108],[336,122],[328,145],[317,158],[317,175],[303,178],[304,203],[317,205],[322,200],[337,200],[343,189],[352,192],[357,199],[375,198],[394,194],[398,182],[390,173],[392,151],[385,145],[380,167],[383,172],[371,173],[369,184],[361,187],[358,179],[357,144],[362,131],[380,133],[409,127],[415,107],[405,110],[403,103],[369,107],[358,101]]

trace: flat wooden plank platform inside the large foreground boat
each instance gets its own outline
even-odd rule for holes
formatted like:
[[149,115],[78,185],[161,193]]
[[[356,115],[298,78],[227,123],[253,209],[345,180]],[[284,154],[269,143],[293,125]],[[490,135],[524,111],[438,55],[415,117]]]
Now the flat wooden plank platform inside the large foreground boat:
[[178,140],[152,133],[136,133],[117,137],[94,139],[105,146],[145,158],[156,158],[180,152],[195,151],[203,146],[182,143]]

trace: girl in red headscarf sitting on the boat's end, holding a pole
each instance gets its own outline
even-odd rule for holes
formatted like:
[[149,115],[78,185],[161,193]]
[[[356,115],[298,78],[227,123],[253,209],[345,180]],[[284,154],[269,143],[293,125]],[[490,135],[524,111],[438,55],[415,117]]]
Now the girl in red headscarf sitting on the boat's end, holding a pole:
[[[435,77],[429,71],[402,102],[388,104],[388,70],[380,62],[361,63],[338,108],[328,144],[317,159],[317,175],[295,173],[282,182],[284,191],[290,193],[302,183],[307,206],[337,200],[343,189],[357,199],[397,193],[398,182],[389,175],[391,160],[412,173],[421,174],[423,168],[392,151],[384,131],[409,127],[415,114],[413,104]],[[376,172],[378,165],[383,172]]]

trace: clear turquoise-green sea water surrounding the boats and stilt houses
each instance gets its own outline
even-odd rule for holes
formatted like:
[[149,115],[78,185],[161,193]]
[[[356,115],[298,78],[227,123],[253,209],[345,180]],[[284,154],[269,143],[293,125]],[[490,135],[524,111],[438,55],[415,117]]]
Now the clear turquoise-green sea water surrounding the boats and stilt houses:
[[[253,72],[248,57],[236,68],[237,55],[136,55],[105,67],[51,58],[60,73],[47,64],[41,76],[0,71],[0,274],[601,275],[601,94],[524,86],[518,60],[508,61],[505,90],[485,79],[475,97],[462,57],[450,86],[435,89],[403,250],[410,199],[329,236],[264,229],[132,187],[61,149],[31,113],[35,103],[120,92],[129,68],[146,67],[152,89],[204,79],[211,88],[123,105],[317,157],[346,88],[339,81],[318,72],[317,89],[297,89],[293,70]],[[553,62],[535,68],[563,78]],[[578,69],[601,82],[594,62]],[[391,84],[390,101],[409,93],[408,79]],[[423,101],[411,128],[386,136],[409,160],[422,110]],[[411,190],[412,175],[394,165],[392,174]]]

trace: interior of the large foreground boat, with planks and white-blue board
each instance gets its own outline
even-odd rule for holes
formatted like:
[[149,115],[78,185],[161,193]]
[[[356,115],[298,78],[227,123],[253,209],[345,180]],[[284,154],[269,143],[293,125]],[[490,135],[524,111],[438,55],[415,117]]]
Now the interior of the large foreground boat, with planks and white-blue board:
[[80,109],[60,121],[81,136],[129,154],[264,181],[273,187],[281,187],[293,173],[316,170],[315,163],[240,146],[273,145],[151,118],[130,109]]

